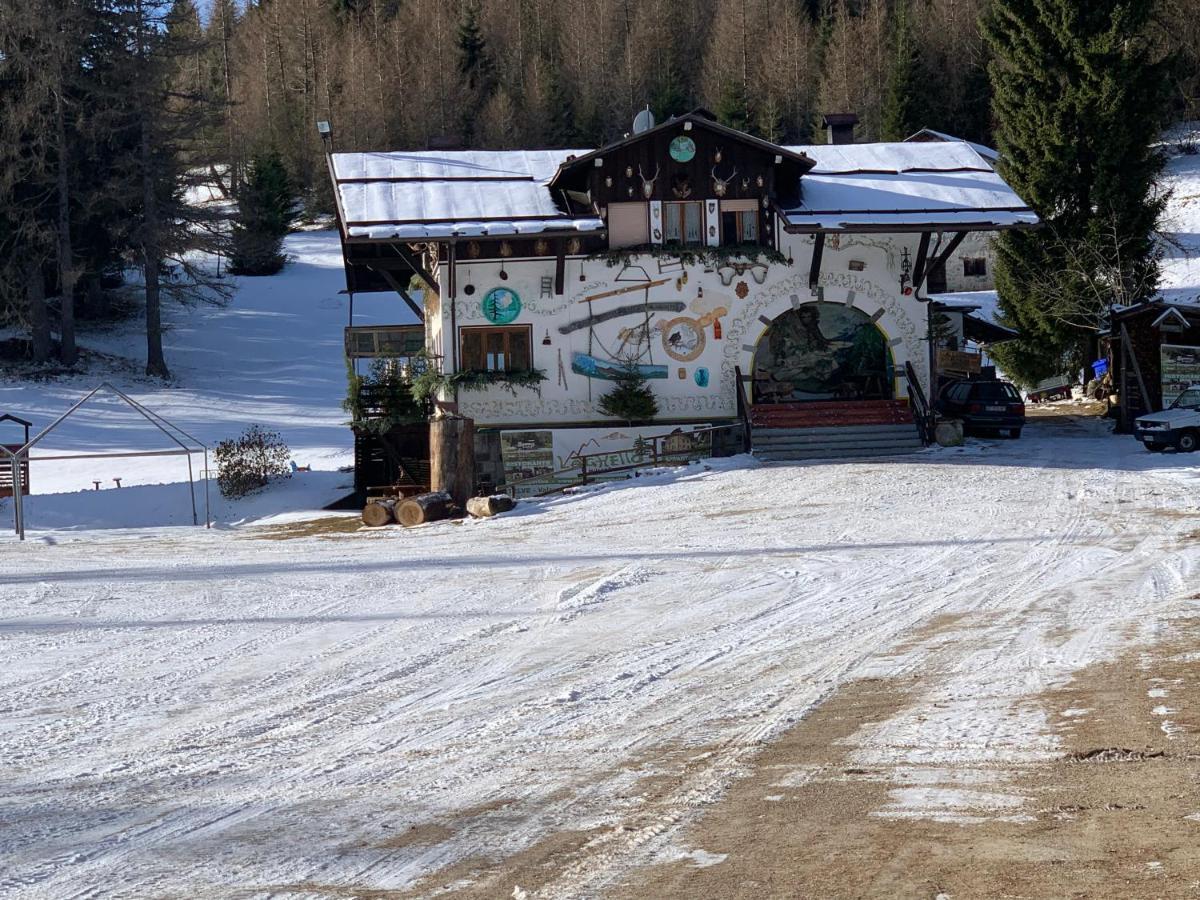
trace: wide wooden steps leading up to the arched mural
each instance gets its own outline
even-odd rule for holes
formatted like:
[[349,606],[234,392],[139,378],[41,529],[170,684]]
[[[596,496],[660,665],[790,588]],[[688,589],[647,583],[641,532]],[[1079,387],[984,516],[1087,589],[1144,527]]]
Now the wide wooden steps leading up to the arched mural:
[[922,448],[902,400],[772,403],[750,410],[754,455],[768,461],[860,458]]

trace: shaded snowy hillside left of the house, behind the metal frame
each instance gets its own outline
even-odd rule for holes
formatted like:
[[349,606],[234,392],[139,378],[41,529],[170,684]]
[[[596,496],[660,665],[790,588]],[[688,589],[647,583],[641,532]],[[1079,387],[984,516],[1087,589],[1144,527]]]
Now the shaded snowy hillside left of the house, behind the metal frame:
[[[287,269],[274,277],[238,278],[228,306],[166,308],[164,343],[173,384],[133,374],[145,352],[134,322],[80,335],[84,347],[131,365],[94,366],[88,374],[49,382],[0,379],[0,413],[31,420],[36,432],[102,380],[110,380],[209,446],[248,425],[262,425],[282,436],[299,466],[312,467],[312,474],[301,473],[264,496],[236,504],[221,503],[212,491],[218,521],[318,509],[332,502],[346,493],[348,482],[336,469],[353,460],[341,408],[346,396],[342,328],[348,314],[348,298],[338,293],[344,288],[341,246],[335,232],[306,232],[289,236],[286,248],[293,257]],[[392,295],[355,298],[355,324],[410,319]],[[18,437],[12,428],[0,433],[5,443]],[[190,523],[182,457],[36,462],[37,455],[170,446],[137,413],[110,396],[98,397],[35,452],[35,496],[26,504],[30,527]],[[202,464],[197,457],[197,472]],[[120,503],[110,493],[116,478],[122,485]],[[103,488],[100,492],[94,490],[96,480]],[[0,500],[5,524],[10,504]]]

